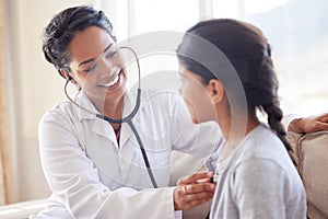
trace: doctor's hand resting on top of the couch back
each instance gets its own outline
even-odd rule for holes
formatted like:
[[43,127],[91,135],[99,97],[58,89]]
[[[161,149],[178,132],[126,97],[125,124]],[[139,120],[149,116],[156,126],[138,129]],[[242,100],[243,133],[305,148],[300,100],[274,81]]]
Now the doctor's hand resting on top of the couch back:
[[288,130],[298,134],[328,130],[328,113],[292,120]]

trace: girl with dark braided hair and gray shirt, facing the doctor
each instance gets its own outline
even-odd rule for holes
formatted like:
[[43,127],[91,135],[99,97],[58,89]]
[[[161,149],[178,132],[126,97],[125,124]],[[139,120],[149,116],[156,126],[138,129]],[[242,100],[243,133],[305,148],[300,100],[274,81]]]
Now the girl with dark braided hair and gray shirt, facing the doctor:
[[215,119],[225,137],[210,218],[306,218],[304,186],[280,123],[271,50],[260,30],[235,20],[200,22],[187,31],[177,55],[180,93],[194,123]]

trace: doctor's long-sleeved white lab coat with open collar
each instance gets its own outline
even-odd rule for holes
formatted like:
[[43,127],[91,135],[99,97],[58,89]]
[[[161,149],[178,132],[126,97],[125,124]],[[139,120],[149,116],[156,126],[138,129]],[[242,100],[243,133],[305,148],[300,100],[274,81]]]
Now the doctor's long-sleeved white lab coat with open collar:
[[[134,107],[134,99],[130,94],[125,99],[125,114]],[[96,112],[83,92],[75,102]],[[172,92],[143,92],[133,124],[160,188],[153,188],[127,124],[121,126],[118,146],[107,122],[70,102],[47,112],[39,124],[39,151],[52,195],[46,209],[34,217],[179,218],[174,211],[174,187],[167,187],[171,152],[209,155],[222,140],[219,126],[192,124],[181,97]]]

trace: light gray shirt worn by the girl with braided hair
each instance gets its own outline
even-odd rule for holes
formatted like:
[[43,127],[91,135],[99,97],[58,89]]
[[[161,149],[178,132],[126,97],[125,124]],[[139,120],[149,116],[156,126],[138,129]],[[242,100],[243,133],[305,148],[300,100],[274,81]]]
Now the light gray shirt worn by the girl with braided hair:
[[301,177],[283,143],[265,125],[251,130],[216,165],[216,174],[211,219],[306,218]]

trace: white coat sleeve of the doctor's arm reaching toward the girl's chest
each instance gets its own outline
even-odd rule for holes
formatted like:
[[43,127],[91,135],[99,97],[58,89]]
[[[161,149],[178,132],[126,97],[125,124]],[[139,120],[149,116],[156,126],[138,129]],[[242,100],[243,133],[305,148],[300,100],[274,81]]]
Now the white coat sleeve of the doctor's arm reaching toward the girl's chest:
[[73,218],[175,218],[175,187],[136,191],[102,183],[72,123],[65,113],[51,113],[39,123],[38,134],[47,182]]

